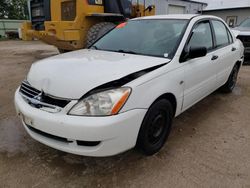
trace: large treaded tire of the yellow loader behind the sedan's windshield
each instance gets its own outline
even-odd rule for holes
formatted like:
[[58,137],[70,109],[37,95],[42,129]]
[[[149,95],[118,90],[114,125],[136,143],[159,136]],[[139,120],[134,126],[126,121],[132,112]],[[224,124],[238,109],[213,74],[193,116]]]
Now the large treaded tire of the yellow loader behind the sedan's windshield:
[[108,33],[111,29],[115,27],[115,24],[111,22],[101,22],[92,26],[87,34],[86,46],[91,46],[95,41],[101,38],[103,35]]

